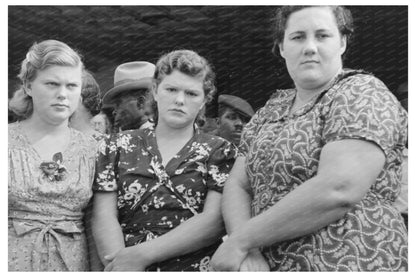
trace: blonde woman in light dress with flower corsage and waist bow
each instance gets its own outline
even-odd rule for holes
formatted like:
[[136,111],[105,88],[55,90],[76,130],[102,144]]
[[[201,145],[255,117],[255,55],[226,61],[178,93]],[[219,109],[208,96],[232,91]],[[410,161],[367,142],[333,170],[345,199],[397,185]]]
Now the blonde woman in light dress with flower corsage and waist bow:
[[92,196],[93,138],[70,128],[83,63],[67,44],[35,43],[9,108],[9,271],[86,271],[83,210]]

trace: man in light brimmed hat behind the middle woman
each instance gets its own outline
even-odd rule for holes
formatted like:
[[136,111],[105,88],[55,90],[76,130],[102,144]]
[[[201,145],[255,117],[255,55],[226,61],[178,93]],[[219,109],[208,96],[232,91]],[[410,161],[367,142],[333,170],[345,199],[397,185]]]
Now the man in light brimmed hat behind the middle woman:
[[113,106],[116,132],[148,127],[145,100],[152,85],[155,65],[144,61],[127,62],[114,72],[114,86],[103,96],[103,108]]

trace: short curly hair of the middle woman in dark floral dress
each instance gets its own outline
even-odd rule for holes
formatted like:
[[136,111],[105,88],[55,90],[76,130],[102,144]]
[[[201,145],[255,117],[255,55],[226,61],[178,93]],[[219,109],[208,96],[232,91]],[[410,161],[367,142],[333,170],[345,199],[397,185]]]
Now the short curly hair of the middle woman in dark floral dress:
[[[156,63],[155,74],[153,76],[155,86],[153,86],[152,90],[156,90],[163,78],[170,75],[174,70],[178,70],[191,77],[201,78],[206,103],[212,101],[216,92],[215,73],[208,61],[192,50],[175,50],[163,55]],[[157,124],[157,103],[153,99],[152,93],[148,94],[147,105],[152,117],[151,120]],[[204,110],[201,109],[196,121],[203,117]]]

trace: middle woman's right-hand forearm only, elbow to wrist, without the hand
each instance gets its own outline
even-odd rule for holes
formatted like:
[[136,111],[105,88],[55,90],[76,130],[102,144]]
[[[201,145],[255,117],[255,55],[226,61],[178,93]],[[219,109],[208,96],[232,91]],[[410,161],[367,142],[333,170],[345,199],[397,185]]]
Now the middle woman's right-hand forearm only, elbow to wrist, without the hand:
[[134,247],[146,253],[146,259],[153,264],[209,246],[218,241],[223,232],[220,214],[201,213],[168,233]]

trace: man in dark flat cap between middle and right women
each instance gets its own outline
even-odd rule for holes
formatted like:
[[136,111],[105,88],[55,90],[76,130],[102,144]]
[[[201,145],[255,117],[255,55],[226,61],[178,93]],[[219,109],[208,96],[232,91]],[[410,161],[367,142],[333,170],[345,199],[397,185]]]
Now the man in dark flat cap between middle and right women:
[[213,134],[238,146],[243,127],[253,115],[254,110],[246,100],[234,95],[221,94],[218,97],[218,127]]

